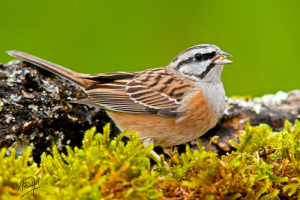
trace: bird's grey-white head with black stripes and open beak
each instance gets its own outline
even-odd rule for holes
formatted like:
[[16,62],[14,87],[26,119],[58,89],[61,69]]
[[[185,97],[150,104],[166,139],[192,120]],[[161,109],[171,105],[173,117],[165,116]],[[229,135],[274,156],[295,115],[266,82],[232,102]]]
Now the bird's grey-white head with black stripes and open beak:
[[172,60],[168,67],[192,81],[216,83],[221,81],[223,66],[232,61],[231,56],[212,44],[190,47]]

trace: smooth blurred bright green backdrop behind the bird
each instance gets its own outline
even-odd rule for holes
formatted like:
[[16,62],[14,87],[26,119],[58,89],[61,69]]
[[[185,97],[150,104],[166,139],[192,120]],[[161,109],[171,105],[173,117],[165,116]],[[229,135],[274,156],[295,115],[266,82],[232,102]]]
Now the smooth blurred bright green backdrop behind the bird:
[[1,1],[0,62],[24,51],[82,73],[166,66],[211,43],[227,96],[300,89],[300,1]]

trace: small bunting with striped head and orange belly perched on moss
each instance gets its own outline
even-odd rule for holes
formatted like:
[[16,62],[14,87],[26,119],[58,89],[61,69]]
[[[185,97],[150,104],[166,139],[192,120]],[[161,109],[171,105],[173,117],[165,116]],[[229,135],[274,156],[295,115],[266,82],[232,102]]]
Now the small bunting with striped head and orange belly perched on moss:
[[136,131],[146,145],[168,149],[190,142],[213,128],[225,110],[221,75],[231,55],[213,44],[187,48],[165,67],[92,75],[24,52],[7,53],[79,85],[87,98],[72,103],[103,108],[120,131]]

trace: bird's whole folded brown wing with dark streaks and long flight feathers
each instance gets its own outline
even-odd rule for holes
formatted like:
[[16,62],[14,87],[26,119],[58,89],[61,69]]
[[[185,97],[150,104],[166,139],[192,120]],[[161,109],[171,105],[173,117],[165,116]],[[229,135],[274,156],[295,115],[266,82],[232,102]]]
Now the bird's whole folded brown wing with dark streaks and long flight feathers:
[[142,71],[131,78],[127,77],[128,75],[126,72],[120,72],[87,76],[86,78],[98,83],[86,88],[88,99],[75,103],[92,104],[135,114],[158,114],[168,117],[180,115],[176,109],[190,88],[187,83],[174,78],[174,75],[167,73],[164,68]]

